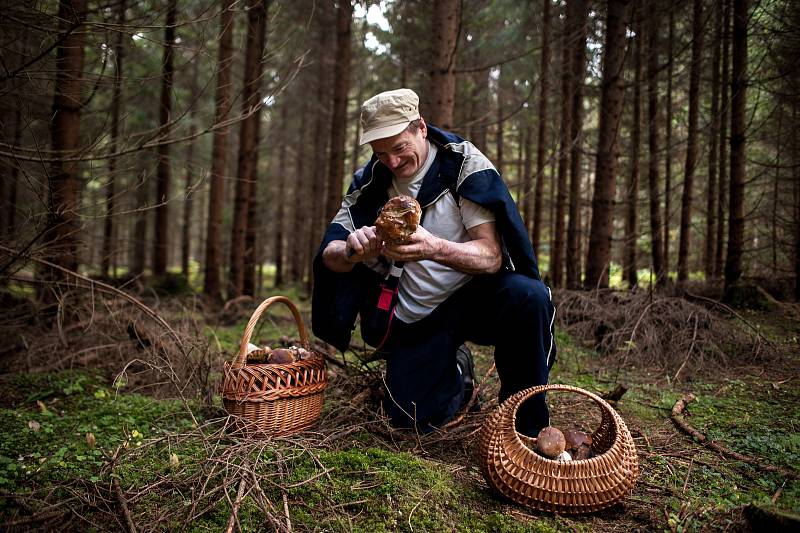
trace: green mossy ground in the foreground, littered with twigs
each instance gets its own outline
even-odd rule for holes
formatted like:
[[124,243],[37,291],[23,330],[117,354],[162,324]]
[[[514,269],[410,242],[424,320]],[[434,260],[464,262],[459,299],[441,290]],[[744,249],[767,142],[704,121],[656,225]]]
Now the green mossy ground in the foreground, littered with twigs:
[[[220,360],[235,352],[244,322],[207,327]],[[289,524],[295,531],[370,532],[747,530],[748,505],[800,513],[797,476],[767,472],[693,442],[672,424],[670,411],[691,392],[697,399],[686,419],[694,428],[761,465],[796,473],[797,336],[770,334],[794,361],[780,368],[720,368],[676,383],[654,369],[609,364],[559,332],[551,381],[593,392],[625,383],[629,390],[617,407],[641,466],[625,502],[579,517],[538,513],[494,496],[471,454],[475,431],[456,432],[457,438],[387,433],[374,424],[379,417],[363,414],[349,424],[341,413],[358,412],[348,403],[354,395],[345,385],[352,380],[337,378],[343,373],[338,368],[332,367],[320,427],[260,441],[225,431],[218,397],[213,406],[156,399],[85,369],[7,374],[0,378],[0,524],[8,530],[124,530],[127,508],[138,530],[220,531],[235,507],[231,524],[243,531]],[[284,316],[268,321],[254,339],[295,335]],[[474,352],[483,376],[490,352]],[[379,372],[381,363],[368,368]],[[488,376],[484,410],[496,405],[496,375]],[[554,419],[568,423],[576,413],[563,396],[549,400]]]

